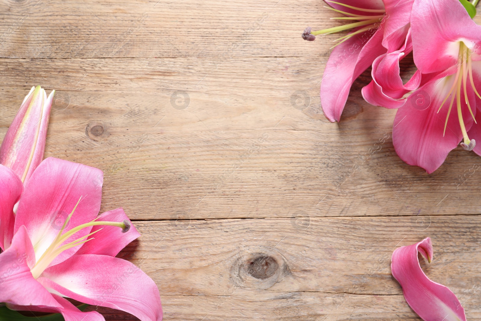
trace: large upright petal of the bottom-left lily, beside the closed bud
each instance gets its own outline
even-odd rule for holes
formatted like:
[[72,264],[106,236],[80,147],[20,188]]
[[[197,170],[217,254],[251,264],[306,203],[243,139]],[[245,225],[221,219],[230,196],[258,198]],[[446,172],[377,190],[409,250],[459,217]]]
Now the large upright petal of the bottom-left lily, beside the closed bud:
[[[35,244],[37,259],[48,248],[63,226],[68,214],[78,204],[65,231],[94,219],[101,203],[103,173],[100,169],[49,157],[34,172],[25,186],[15,218],[15,231],[25,225]],[[65,243],[89,233],[85,228]],[[62,252],[51,263],[72,256],[79,246]]]

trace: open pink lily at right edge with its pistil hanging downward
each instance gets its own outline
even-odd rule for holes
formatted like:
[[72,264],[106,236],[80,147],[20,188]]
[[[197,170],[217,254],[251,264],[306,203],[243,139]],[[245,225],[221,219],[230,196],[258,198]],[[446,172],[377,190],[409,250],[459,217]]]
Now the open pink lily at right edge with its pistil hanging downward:
[[461,140],[481,155],[481,26],[458,0],[415,0],[411,29],[422,83],[399,108],[392,140],[402,160],[432,173]]

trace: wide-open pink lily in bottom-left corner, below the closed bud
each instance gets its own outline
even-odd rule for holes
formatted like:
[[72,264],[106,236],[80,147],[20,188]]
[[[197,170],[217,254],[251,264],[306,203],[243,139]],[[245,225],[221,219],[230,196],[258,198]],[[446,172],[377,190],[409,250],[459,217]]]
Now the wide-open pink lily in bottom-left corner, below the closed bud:
[[102,181],[100,169],[50,157],[24,188],[12,169],[0,165],[0,226],[6,230],[0,244],[0,302],[13,310],[60,312],[66,321],[104,320],[64,296],[142,321],[162,320],[157,285],[115,257],[139,232],[122,208],[97,216]]

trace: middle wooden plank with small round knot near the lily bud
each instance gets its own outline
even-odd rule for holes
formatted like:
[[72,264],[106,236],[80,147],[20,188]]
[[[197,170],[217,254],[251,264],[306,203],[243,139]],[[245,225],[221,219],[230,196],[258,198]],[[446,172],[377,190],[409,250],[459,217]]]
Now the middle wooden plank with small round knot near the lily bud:
[[[48,60],[70,70],[61,77],[42,61],[13,60],[0,68],[2,103],[9,106],[0,112],[0,134],[26,91],[8,89],[9,84],[19,81],[21,70],[42,68],[38,75],[45,73],[47,88],[61,89],[46,155],[104,170],[103,210],[124,206],[136,219],[293,217],[298,211],[312,217],[429,218],[479,212],[471,201],[481,188],[474,167],[478,156],[458,148],[432,175],[406,165],[392,147],[395,112],[361,100],[367,73],[354,84],[338,125],[318,114],[316,87],[305,91],[312,99],[308,108],[293,107],[291,77],[301,64],[293,62],[297,67],[280,76],[289,84],[272,72],[280,73],[289,58],[248,59],[239,69],[219,69],[203,80],[199,76],[203,85],[195,88],[192,82],[190,104],[181,110],[173,107],[181,98],[173,93],[189,90],[180,87],[184,76],[191,77],[185,61],[147,62],[170,69],[165,77],[171,80],[155,92],[150,90],[158,80],[142,78],[143,60],[115,59],[83,80],[82,60]],[[178,72],[182,68],[185,75]],[[301,82],[310,83],[309,68],[301,70]],[[63,85],[68,75],[79,75],[85,88]],[[119,91],[108,85],[114,75]]]

